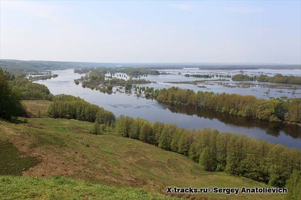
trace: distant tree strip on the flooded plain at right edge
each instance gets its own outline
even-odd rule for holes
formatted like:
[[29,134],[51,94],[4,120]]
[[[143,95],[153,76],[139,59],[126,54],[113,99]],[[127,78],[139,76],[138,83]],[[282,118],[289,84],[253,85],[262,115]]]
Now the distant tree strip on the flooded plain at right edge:
[[274,76],[260,75],[260,76],[248,76],[243,74],[236,74],[232,77],[233,81],[259,81],[259,82],[271,82],[271,83],[289,83],[301,85],[301,77],[298,76],[283,76],[276,74]]

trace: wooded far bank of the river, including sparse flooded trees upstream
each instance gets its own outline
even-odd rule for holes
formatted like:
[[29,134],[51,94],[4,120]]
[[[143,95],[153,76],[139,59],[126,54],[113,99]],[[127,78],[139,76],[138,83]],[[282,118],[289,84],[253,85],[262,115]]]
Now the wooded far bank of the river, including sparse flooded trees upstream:
[[[123,86],[125,90],[133,88],[139,95],[144,92],[146,98],[155,98],[159,102],[171,105],[191,105],[273,122],[301,122],[301,98],[286,101],[281,99],[264,100],[251,95],[214,94],[214,92],[202,91],[195,93],[193,90],[178,87],[159,90],[135,85],[145,83],[144,79],[125,81],[118,78],[105,78],[106,73],[108,73],[107,68],[93,69],[81,80],[82,86],[108,93],[112,92],[113,86]],[[77,80],[75,82],[79,83]]]

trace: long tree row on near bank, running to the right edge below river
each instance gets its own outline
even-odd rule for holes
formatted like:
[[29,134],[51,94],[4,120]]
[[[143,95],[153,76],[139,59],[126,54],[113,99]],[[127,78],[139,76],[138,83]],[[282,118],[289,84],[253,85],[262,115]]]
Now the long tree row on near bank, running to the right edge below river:
[[189,156],[207,171],[225,171],[272,186],[284,186],[289,174],[301,169],[300,150],[244,135],[183,129],[124,115],[117,118],[115,129],[124,137]]

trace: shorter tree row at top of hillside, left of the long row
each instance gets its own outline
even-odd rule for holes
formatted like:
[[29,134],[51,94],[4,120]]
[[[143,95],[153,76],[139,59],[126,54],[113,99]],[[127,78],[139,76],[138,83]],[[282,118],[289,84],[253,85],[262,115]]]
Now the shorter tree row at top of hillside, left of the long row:
[[71,95],[59,94],[52,98],[48,115],[52,118],[77,119],[99,124],[112,125],[115,115],[103,108]]

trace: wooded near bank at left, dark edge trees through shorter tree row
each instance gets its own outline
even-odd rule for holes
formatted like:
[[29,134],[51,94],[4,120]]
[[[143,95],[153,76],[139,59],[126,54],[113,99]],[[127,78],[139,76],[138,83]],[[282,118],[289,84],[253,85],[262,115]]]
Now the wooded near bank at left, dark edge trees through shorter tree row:
[[0,70],[0,117],[11,119],[23,112],[21,100],[49,100],[52,118],[77,119],[111,126],[115,115],[103,108],[90,104],[79,97],[55,95],[45,85],[32,83],[21,74],[10,74]]

